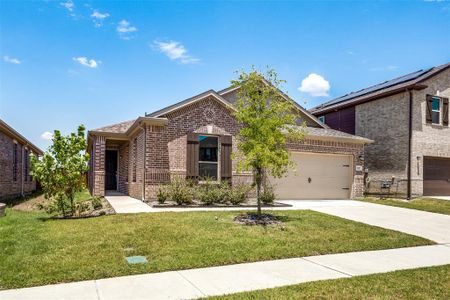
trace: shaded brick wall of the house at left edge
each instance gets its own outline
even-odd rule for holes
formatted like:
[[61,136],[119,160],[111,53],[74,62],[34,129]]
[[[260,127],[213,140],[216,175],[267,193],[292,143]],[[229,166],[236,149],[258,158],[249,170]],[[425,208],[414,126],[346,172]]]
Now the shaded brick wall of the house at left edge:
[[[25,147],[20,143],[17,143],[17,176],[13,180],[13,151],[13,139],[0,132],[0,200],[28,194],[36,189],[36,182],[25,174]],[[28,170],[31,171],[30,163]]]

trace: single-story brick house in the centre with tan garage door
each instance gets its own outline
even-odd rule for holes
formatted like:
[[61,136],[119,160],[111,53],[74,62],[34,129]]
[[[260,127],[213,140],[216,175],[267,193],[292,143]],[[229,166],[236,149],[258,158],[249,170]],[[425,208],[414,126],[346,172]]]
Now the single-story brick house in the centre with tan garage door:
[[[233,117],[237,90],[209,90],[143,117],[90,130],[91,193],[113,190],[152,199],[158,186],[177,176],[252,182],[252,173],[239,172],[231,159],[240,128]],[[371,141],[329,129],[296,107],[299,123],[308,125],[308,135],[305,141],[288,144],[299,167],[297,174],[276,180],[278,197],[362,195],[364,145]]]

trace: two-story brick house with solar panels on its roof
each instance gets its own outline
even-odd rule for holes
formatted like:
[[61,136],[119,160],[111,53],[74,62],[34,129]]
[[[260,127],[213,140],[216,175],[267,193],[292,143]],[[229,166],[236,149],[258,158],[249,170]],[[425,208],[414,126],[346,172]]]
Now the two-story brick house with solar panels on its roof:
[[368,192],[450,195],[450,63],[326,102],[311,113],[331,128],[375,143],[366,147]]

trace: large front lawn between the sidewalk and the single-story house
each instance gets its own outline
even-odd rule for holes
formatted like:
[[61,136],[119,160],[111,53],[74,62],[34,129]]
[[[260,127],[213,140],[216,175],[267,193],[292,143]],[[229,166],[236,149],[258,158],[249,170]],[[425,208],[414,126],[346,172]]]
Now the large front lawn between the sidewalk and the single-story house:
[[[0,219],[0,288],[433,244],[313,211],[275,213],[284,216],[283,228],[236,225],[237,212],[58,220],[8,209]],[[127,265],[132,255],[149,263]]]

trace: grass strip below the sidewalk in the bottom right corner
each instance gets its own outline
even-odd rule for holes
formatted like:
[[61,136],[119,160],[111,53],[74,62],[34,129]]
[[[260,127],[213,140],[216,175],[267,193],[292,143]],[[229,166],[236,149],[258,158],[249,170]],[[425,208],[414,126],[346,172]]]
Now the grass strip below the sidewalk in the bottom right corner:
[[208,299],[450,299],[450,265],[316,281]]

